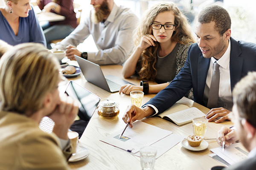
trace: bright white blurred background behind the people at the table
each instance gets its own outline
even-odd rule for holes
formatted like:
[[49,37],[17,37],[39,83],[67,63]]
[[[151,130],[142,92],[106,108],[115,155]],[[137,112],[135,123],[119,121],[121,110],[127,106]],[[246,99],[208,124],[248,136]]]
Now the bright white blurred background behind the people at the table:
[[[31,0],[33,2],[35,0]],[[115,0],[116,4],[131,8],[140,18],[143,12],[163,0]],[[205,7],[216,4],[227,9],[231,17],[231,36],[237,40],[256,43],[256,0],[169,0],[176,3],[188,18],[192,28],[198,13]],[[74,0],[82,7],[81,20],[92,9],[90,0]],[[0,0],[0,6],[4,6]],[[80,51],[97,51],[92,36],[78,46]]]

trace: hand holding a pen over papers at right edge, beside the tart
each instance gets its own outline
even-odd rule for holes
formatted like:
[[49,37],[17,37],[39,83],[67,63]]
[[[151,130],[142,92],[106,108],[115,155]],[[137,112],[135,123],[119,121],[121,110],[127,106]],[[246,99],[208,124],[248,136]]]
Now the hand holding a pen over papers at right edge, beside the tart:
[[220,146],[225,142],[225,146],[228,147],[231,144],[235,143],[238,140],[238,136],[236,135],[236,131],[227,127],[221,127],[218,130],[217,142]]

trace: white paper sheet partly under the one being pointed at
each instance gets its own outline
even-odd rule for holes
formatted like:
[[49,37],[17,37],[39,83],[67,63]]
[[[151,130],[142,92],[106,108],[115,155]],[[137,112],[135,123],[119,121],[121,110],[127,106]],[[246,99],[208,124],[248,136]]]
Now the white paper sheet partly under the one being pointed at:
[[[184,136],[171,134],[171,135],[166,136],[165,138],[161,139],[160,141],[157,141],[154,144],[151,144],[151,146],[153,146],[157,149],[156,159],[158,157],[160,157],[161,155],[163,155],[164,153],[166,153],[168,150],[170,150],[176,144],[181,142],[183,139],[185,139]],[[137,152],[134,155],[140,157],[140,152]]]

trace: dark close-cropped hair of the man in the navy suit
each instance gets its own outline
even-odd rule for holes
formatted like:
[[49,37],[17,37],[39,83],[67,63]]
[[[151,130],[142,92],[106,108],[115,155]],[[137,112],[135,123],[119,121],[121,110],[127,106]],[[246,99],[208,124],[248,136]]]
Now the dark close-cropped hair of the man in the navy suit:
[[198,22],[201,24],[214,22],[215,30],[219,32],[221,37],[231,28],[231,18],[228,11],[217,5],[204,8],[198,14]]

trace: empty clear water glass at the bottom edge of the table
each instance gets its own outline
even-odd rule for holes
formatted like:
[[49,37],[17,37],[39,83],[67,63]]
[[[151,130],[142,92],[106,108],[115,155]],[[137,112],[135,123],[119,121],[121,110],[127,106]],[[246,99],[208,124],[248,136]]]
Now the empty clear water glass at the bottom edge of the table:
[[153,170],[157,149],[152,146],[140,148],[140,164],[143,170]]

